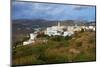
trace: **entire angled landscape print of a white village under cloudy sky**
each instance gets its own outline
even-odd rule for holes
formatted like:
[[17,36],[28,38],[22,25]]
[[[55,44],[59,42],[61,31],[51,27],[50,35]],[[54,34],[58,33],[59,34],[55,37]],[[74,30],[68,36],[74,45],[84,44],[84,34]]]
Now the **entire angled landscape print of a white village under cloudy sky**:
[[12,2],[11,65],[96,61],[96,6]]

